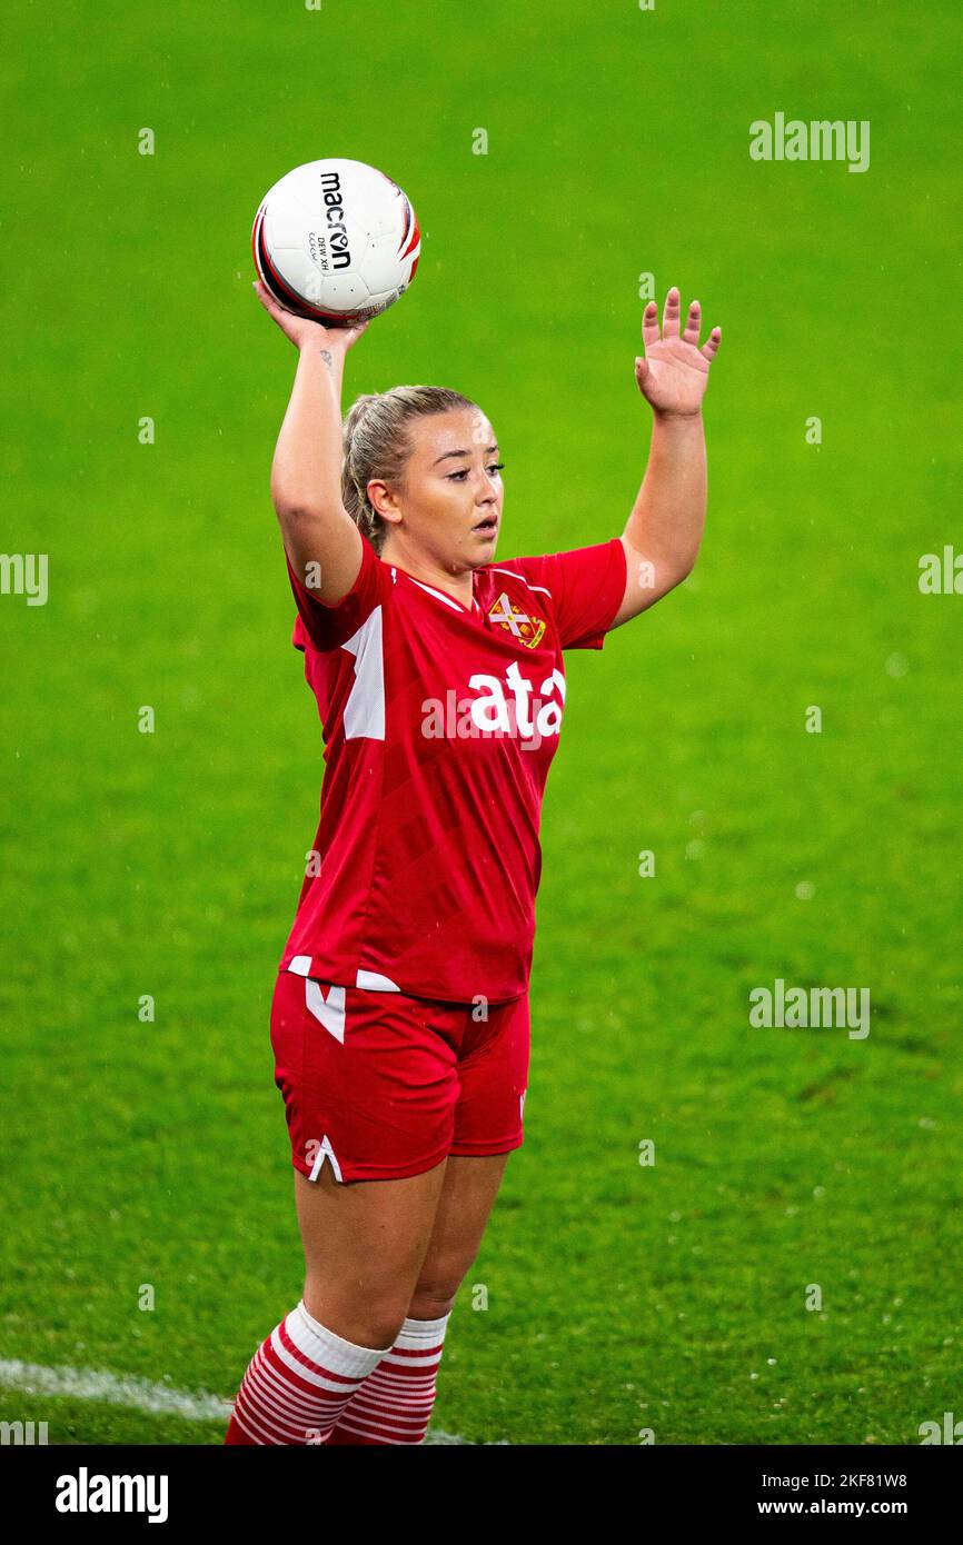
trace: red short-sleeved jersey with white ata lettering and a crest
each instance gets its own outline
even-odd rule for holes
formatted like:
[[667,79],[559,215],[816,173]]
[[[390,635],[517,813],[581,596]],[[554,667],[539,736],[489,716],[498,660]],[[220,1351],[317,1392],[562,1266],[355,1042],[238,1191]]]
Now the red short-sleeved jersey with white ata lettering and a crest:
[[280,969],[420,998],[518,998],[566,701],[561,652],[601,649],[624,548],[614,536],[482,564],[470,607],[365,538],[362,548],[337,606],[288,562],[325,777]]

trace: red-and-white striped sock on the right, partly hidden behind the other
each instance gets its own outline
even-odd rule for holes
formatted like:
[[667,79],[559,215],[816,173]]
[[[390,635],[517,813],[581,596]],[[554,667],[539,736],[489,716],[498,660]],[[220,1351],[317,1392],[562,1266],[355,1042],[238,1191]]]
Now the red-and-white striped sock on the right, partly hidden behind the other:
[[434,1381],[450,1319],[405,1319],[397,1341],[343,1407],[331,1446],[356,1443],[424,1443]]

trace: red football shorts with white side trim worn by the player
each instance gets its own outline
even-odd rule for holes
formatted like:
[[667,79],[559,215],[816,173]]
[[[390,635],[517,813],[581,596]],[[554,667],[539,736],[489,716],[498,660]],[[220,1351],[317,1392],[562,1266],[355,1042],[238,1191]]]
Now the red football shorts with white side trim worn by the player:
[[399,1180],[448,1154],[521,1148],[529,998],[479,1014],[278,972],[274,1082],[295,1170],[317,1180],[328,1162],[337,1180]]

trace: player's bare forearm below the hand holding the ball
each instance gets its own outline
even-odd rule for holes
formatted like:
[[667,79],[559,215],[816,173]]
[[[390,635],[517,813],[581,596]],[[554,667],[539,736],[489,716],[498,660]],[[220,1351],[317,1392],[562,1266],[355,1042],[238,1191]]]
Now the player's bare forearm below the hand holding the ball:
[[345,355],[325,340],[298,349],[291,400],[271,467],[278,516],[342,508],[342,379]]

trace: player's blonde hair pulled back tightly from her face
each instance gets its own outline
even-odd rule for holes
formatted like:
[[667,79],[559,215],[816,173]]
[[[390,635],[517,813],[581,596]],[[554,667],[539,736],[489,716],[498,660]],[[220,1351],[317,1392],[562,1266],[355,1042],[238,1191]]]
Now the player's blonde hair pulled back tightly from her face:
[[478,408],[478,403],[447,386],[391,386],[351,403],[343,423],[342,499],[376,553],[385,545],[390,524],[368,499],[368,484],[377,477],[397,487],[413,450],[407,425],[453,408]]

